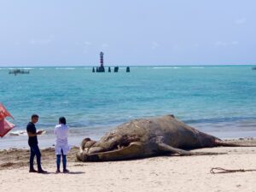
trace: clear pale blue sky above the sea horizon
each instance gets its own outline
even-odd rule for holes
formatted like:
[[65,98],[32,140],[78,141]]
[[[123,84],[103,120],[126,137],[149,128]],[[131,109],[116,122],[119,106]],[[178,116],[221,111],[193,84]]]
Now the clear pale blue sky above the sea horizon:
[[255,0],[0,0],[0,67],[252,65]]

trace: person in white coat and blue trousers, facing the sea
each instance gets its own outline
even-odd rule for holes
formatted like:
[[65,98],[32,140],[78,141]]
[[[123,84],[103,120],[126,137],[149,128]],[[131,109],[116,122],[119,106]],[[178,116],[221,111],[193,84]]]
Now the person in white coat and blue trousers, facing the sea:
[[68,126],[66,125],[65,117],[60,117],[59,124],[55,125],[55,154],[56,154],[56,173],[61,172],[61,155],[63,172],[69,172],[67,170],[67,152],[69,151],[69,146],[67,143]]

